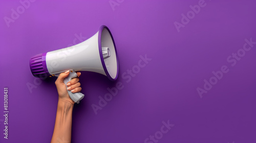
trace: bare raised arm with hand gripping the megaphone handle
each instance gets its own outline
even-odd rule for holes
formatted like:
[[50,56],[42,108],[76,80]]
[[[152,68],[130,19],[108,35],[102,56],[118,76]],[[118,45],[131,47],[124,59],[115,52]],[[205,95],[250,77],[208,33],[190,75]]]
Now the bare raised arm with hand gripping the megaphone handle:
[[[56,120],[51,143],[55,142],[71,142],[71,129],[72,129],[72,112],[74,101],[69,97],[67,88],[63,80],[68,77],[69,72],[61,73],[56,80],[55,84],[58,90],[59,99],[56,113]],[[81,73],[77,73],[78,77]],[[68,85],[68,90],[73,93],[80,92],[81,87],[78,78],[72,79]],[[69,88],[70,87],[70,88]]]

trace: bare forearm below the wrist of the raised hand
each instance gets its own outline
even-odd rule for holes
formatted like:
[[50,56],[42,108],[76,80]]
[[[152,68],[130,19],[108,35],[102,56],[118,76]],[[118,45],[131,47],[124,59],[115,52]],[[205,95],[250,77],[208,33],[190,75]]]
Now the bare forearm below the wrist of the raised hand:
[[59,99],[51,143],[71,142],[73,107],[74,104]]

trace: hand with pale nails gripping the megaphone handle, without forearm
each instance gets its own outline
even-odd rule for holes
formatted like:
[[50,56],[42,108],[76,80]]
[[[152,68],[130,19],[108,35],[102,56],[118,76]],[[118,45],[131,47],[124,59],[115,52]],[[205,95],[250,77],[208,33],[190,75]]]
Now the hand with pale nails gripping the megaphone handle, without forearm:
[[76,74],[77,74],[77,78],[74,78],[67,83],[68,88],[66,87],[63,80],[69,76],[69,70],[66,71],[65,73],[61,73],[59,75],[58,79],[55,81],[55,84],[56,84],[56,87],[58,90],[58,94],[59,94],[59,101],[67,102],[67,103],[71,103],[71,104],[75,103],[72,99],[70,99],[67,89],[71,90],[71,92],[73,92],[73,93],[81,91],[81,89],[82,89],[80,87],[81,84],[80,84],[80,82],[78,82],[79,81],[78,77],[81,76],[81,73],[77,72]]

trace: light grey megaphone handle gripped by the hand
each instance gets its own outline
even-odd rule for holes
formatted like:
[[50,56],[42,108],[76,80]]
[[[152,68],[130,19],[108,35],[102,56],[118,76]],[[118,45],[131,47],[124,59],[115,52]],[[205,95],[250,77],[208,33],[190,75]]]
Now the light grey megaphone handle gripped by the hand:
[[[73,78],[76,78],[77,77],[77,74],[75,71],[73,70],[70,70],[69,71],[69,76],[67,78],[64,79],[64,83],[66,84],[66,87],[68,88],[67,86],[67,83],[69,81],[71,81]],[[68,90],[68,89],[67,89]],[[76,103],[79,103],[80,100],[83,99],[84,97],[84,94],[81,93],[81,92],[76,92],[76,93],[72,93],[70,90],[68,90],[68,93],[69,93],[69,97]]]

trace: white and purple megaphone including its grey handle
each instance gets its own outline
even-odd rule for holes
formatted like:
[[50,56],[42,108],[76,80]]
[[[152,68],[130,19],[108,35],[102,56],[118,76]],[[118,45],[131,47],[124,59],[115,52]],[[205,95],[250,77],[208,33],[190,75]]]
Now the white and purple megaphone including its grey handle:
[[[65,84],[77,77],[76,71],[93,71],[112,81],[118,77],[116,45],[106,26],[101,26],[99,31],[86,41],[60,50],[35,55],[29,63],[33,76],[39,78],[58,77],[60,73],[70,70],[69,76],[64,80]],[[72,93],[68,90],[68,93],[76,103],[79,103],[84,97],[84,94],[80,92]]]

